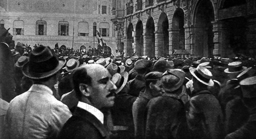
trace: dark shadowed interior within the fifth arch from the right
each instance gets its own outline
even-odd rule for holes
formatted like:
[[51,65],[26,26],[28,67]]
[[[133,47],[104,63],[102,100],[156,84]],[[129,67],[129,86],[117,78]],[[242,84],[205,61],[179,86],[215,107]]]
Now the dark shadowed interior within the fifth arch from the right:
[[155,35],[154,35],[155,27],[154,20],[152,17],[148,18],[148,22],[146,24],[146,33],[151,35],[151,44],[148,47],[149,49],[149,57],[154,57],[155,52]]

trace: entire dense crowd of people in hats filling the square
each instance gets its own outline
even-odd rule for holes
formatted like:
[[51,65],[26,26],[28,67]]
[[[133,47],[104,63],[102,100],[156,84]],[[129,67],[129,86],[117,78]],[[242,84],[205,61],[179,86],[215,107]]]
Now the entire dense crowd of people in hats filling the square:
[[1,139],[256,139],[255,55],[11,51],[0,30]]

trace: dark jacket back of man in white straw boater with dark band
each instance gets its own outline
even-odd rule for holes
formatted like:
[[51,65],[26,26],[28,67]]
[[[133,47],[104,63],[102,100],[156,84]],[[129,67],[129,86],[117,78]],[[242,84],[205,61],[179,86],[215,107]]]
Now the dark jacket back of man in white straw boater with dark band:
[[221,139],[223,137],[221,106],[208,90],[192,92],[187,121],[195,139]]

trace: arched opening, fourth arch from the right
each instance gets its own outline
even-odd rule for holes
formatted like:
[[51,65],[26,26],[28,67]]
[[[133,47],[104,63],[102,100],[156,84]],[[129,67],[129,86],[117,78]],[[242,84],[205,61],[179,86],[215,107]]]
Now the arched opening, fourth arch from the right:
[[[158,56],[169,56],[169,22],[166,13],[160,14],[158,21]],[[162,43],[161,43],[162,42]]]

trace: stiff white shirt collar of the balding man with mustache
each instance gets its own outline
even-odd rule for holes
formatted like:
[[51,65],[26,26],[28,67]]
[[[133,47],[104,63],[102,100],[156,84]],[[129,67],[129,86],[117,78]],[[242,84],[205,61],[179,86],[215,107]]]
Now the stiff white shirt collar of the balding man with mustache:
[[104,122],[104,115],[101,111],[99,111],[99,109],[93,107],[92,105],[89,105],[87,103],[84,102],[78,102],[77,107],[82,108],[88,112],[90,112],[91,114],[93,114],[97,119],[99,119],[99,121],[103,124]]

